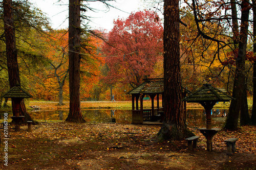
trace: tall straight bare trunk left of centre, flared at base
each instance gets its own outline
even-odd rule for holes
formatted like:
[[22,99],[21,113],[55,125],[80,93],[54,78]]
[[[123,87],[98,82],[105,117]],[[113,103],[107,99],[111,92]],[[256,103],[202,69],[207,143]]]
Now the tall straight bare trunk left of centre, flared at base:
[[80,0],[69,1],[69,92],[68,122],[84,123],[80,105]]

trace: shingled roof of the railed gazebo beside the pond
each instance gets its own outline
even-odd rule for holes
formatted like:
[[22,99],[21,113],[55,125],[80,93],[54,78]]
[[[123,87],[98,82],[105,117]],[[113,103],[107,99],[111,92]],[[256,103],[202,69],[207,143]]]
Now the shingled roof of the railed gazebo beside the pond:
[[139,93],[163,93],[163,79],[146,79],[139,86],[128,92],[128,94]]

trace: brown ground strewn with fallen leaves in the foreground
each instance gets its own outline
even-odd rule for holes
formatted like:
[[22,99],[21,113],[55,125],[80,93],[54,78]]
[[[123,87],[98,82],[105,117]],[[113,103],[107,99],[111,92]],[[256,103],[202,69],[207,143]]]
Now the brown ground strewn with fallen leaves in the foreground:
[[[11,127],[9,127],[11,128]],[[1,152],[0,169],[256,169],[256,128],[221,131],[213,138],[214,151],[187,142],[155,142],[158,125],[41,123],[32,132],[9,129],[8,166]],[[237,152],[225,153],[225,139],[237,137]],[[4,145],[1,147],[2,151]]]

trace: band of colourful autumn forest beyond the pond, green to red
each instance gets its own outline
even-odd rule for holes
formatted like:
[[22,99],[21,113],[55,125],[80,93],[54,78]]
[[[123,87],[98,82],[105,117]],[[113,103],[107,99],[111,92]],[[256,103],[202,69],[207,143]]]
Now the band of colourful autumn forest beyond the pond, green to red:
[[[21,2],[14,1],[14,21],[22,87],[33,95],[33,100],[59,101],[62,105],[62,101],[69,101],[68,30],[52,29],[44,13],[30,3]],[[108,101],[113,94],[115,100],[131,100],[127,92],[143,79],[163,78],[163,18],[157,14],[161,11],[157,8],[159,4],[151,4],[154,10],[134,12],[128,18],[114,20],[110,32],[90,30],[90,19],[83,18],[81,101]],[[207,5],[210,8],[214,4],[208,2]],[[220,7],[220,15],[227,8]],[[180,18],[184,23],[180,26],[182,86],[192,91],[211,83],[231,94],[238,52],[228,46],[219,51],[217,43],[199,36],[193,10],[186,2],[180,5]],[[4,23],[1,22],[3,35]],[[205,22],[205,26],[202,29],[206,32],[219,29],[223,33],[216,35],[219,39],[230,39],[232,30],[225,21]],[[249,31],[252,31],[251,23]],[[245,72],[247,92],[251,95],[254,55],[253,37],[251,33],[248,35]],[[9,89],[9,83],[5,39],[2,36],[0,40],[2,95]],[[2,103],[3,98],[1,106]]]

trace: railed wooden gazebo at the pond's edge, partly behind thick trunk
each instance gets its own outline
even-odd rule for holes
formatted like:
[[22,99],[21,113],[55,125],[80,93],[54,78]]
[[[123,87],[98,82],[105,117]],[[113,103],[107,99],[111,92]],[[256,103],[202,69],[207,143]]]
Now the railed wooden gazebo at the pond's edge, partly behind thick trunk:
[[[132,110],[133,110],[133,124],[143,124],[143,122],[155,122],[160,117],[160,122],[163,119],[163,106],[159,106],[159,95],[163,95],[163,79],[145,79],[145,81],[133,90],[128,92],[132,94]],[[143,98],[149,95],[151,99],[151,109],[143,109]],[[185,96],[185,92],[183,93]],[[154,99],[157,97],[157,107],[154,106]],[[140,99],[140,109],[139,109]],[[145,98],[144,98],[145,99]],[[136,108],[135,108],[136,107]]]

